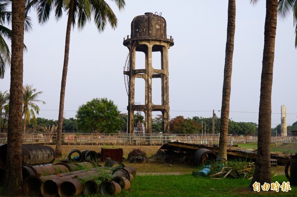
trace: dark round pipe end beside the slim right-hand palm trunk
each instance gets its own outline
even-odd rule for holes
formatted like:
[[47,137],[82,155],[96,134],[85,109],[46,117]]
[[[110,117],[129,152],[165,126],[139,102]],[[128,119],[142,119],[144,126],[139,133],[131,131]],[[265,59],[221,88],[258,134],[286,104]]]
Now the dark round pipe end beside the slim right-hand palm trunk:
[[200,148],[194,153],[194,162],[196,165],[209,164],[217,157],[216,153],[206,148]]

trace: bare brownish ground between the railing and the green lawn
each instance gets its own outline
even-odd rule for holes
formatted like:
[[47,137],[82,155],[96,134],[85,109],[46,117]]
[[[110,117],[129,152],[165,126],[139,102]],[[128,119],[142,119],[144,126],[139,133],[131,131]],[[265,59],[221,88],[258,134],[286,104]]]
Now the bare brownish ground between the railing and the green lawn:
[[[50,146],[55,148],[55,146]],[[139,148],[147,153],[147,156],[150,157],[154,155],[161,146],[87,146],[87,145],[80,145],[80,146],[71,146],[71,145],[63,145],[62,146],[62,156],[63,158],[68,155],[68,153],[73,149],[78,149],[80,151],[83,150],[94,150],[96,152],[101,152],[101,148],[122,148],[123,149],[123,157],[124,157],[124,165],[125,166],[134,166],[137,170],[138,175],[142,174],[191,174],[196,167],[190,164],[183,164],[183,163],[130,163],[127,160],[127,156],[133,148]],[[57,162],[59,160],[56,160]],[[102,163],[101,165],[104,165]],[[285,166],[277,166],[272,167],[271,171],[274,175],[278,174],[285,174]]]

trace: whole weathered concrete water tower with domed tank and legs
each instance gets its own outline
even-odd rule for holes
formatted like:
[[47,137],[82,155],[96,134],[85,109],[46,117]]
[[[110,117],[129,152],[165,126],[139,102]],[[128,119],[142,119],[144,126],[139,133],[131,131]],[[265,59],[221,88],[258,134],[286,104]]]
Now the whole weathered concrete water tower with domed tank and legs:
[[[169,133],[169,82],[168,49],[174,45],[173,38],[166,34],[166,20],[160,14],[150,12],[136,16],[131,23],[131,36],[124,38],[123,45],[129,49],[124,67],[128,94],[128,133],[134,130],[134,112],[145,113],[145,133],[152,132],[152,111],[162,113],[162,131]],[[145,54],[144,67],[136,69],[136,51]],[[152,65],[152,53],[160,52],[160,64]],[[155,69],[159,66],[160,69]],[[135,93],[135,78],[145,80],[145,92]],[[152,79],[161,79],[161,104],[152,103]],[[145,94],[145,103],[136,103],[135,94]]]

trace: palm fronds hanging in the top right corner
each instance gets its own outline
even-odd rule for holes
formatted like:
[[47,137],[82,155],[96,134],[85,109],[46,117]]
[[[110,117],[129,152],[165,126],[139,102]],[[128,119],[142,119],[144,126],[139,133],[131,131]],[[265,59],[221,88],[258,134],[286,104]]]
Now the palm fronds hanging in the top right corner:
[[297,0],[279,0],[277,13],[280,17],[286,18],[293,11],[295,25],[295,48],[297,48]]

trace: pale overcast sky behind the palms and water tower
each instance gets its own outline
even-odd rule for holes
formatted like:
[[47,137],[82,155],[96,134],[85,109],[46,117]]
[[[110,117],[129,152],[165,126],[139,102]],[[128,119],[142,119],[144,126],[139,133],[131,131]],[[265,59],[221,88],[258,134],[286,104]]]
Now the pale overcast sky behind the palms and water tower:
[[[174,38],[169,49],[170,117],[220,117],[225,63],[228,0],[126,0],[118,11],[106,0],[118,18],[118,26],[98,33],[93,21],[83,31],[71,32],[64,117],[75,117],[78,107],[94,98],[114,101],[127,113],[128,96],[123,66],[128,49],[123,38],[131,34],[131,21],[145,12],[157,12],[166,19],[167,35]],[[233,57],[230,119],[258,123],[260,76],[264,44],[265,0],[252,5],[236,2],[236,31]],[[31,11],[33,30],[25,33],[23,84],[33,84],[43,94],[39,117],[57,120],[64,57],[67,16],[56,22],[53,15],[43,26]],[[272,90],[272,127],[281,123],[281,105],[287,107],[287,124],[297,121],[297,50],[293,16],[278,19]],[[160,61],[153,56],[153,64]],[[144,55],[137,53],[138,65]],[[0,80],[0,91],[9,90],[9,68]],[[144,81],[136,81],[136,102],[144,103]],[[160,104],[160,81],[153,82],[152,99]],[[159,112],[153,112],[154,115]]]

